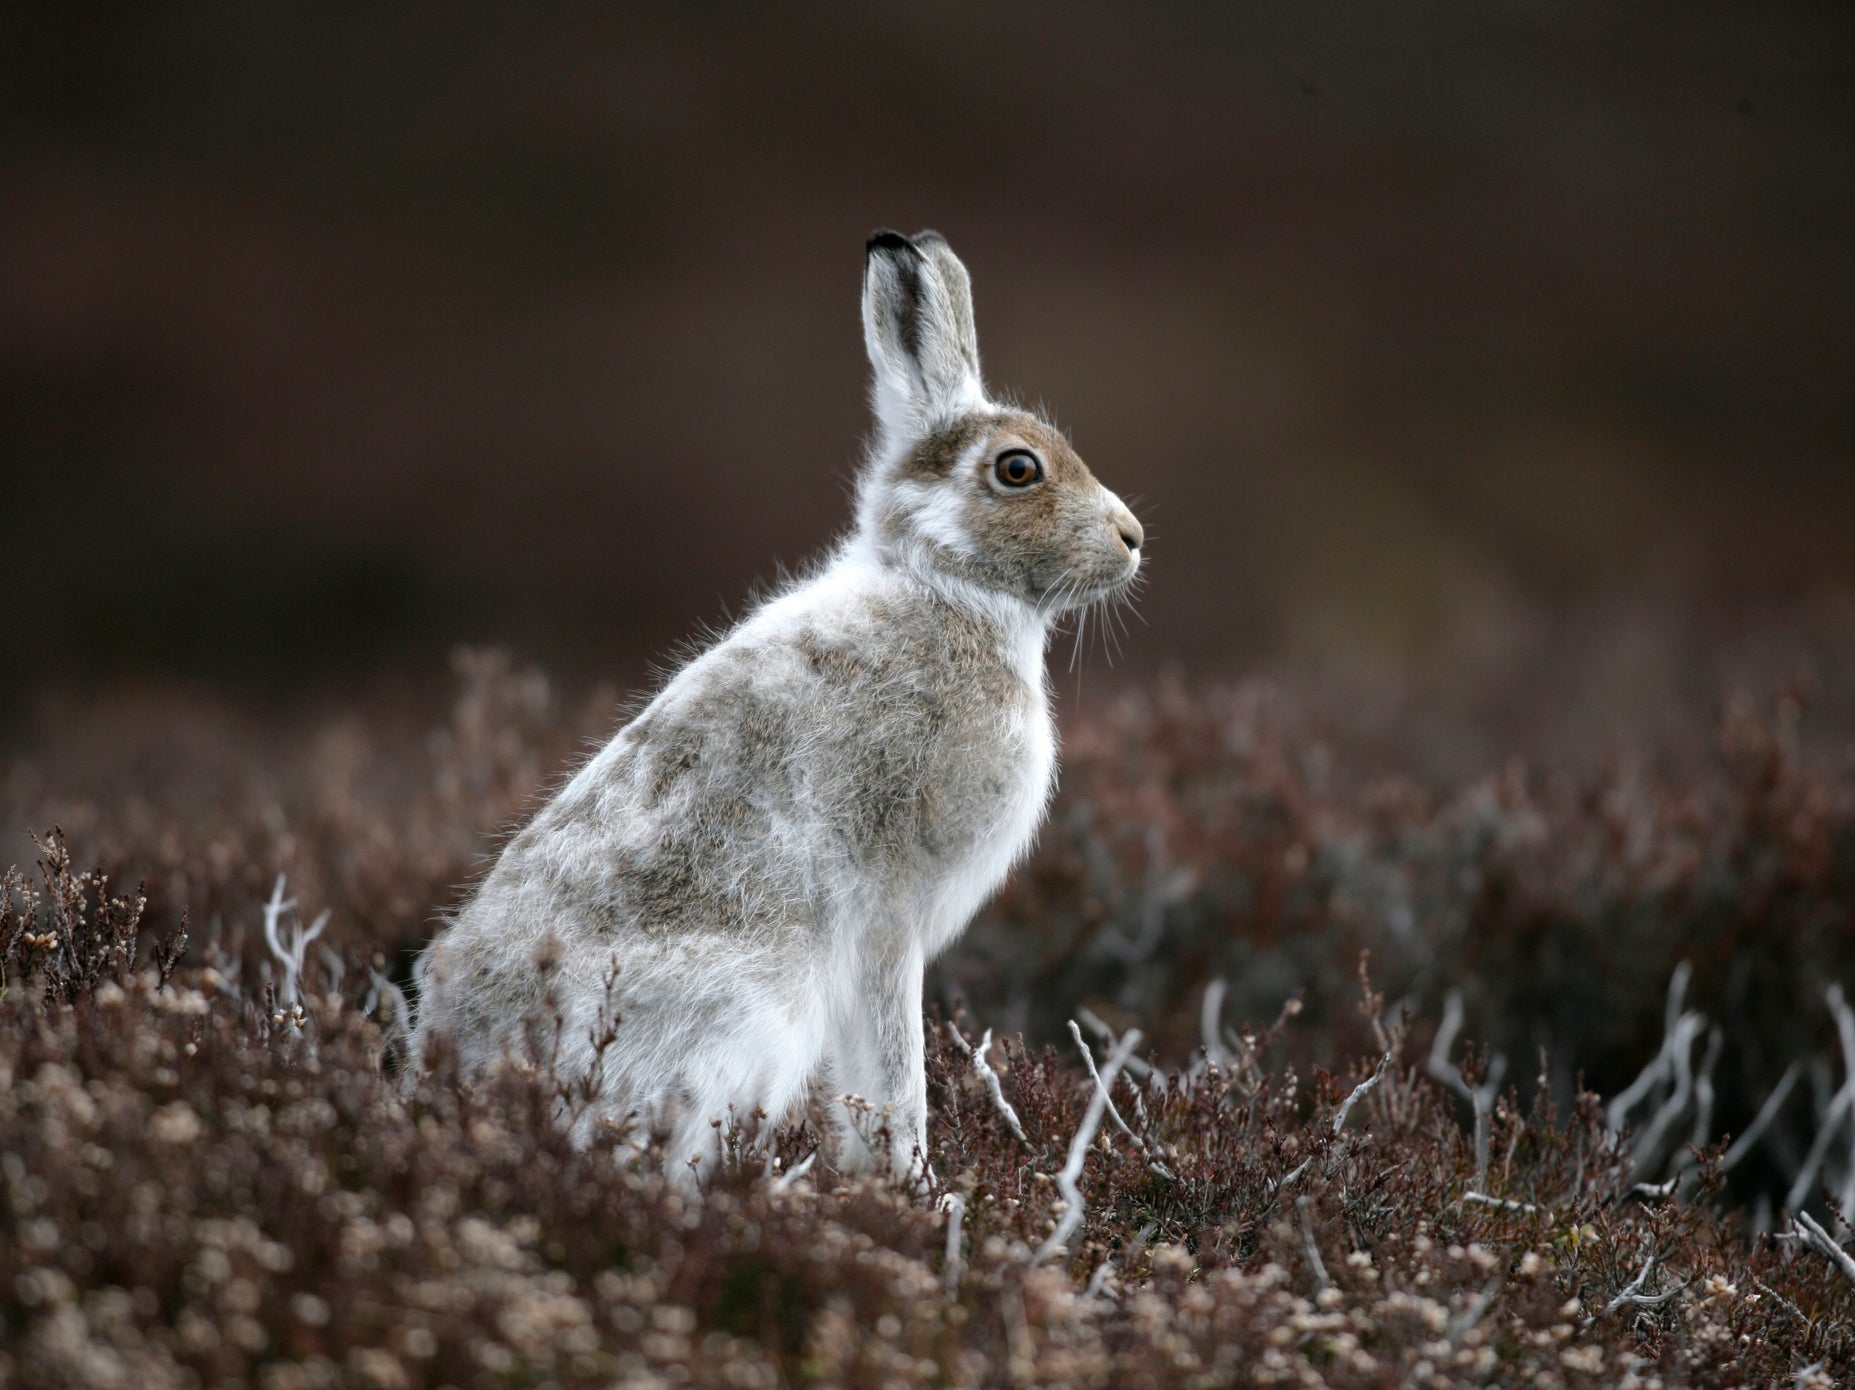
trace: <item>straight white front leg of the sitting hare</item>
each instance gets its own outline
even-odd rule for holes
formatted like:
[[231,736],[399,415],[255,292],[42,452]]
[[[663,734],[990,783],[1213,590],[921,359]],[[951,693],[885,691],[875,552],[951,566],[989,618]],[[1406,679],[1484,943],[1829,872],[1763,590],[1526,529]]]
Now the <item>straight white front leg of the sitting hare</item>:
[[[866,945],[842,982],[833,1017],[831,1075],[838,1097],[876,1106],[853,1115],[837,1102],[838,1162],[868,1167],[868,1138],[889,1119],[889,1162],[896,1175],[928,1171],[928,1065],[922,1039],[922,974],[928,963],[915,943]],[[861,1130],[861,1132],[859,1132]]]

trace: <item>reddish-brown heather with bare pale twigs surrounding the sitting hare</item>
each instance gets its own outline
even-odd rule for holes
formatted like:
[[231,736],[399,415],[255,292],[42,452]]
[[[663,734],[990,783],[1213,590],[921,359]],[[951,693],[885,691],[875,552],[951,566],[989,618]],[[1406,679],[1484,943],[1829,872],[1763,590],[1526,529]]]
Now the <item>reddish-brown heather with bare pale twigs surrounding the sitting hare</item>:
[[1836,651],[1467,768],[1421,700],[1072,701],[929,980],[928,1193],[816,1115],[701,1197],[575,1147],[545,1019],[403,1075],[412,952],[610,690],[462,651],[441,701],[61,713],[0,789],[0,1383],[1842,1383]]

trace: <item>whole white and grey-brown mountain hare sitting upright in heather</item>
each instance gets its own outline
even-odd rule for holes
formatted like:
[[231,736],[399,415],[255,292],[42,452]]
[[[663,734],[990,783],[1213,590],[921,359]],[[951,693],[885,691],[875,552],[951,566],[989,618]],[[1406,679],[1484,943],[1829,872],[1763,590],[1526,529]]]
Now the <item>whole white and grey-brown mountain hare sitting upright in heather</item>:
[[[863,336],[877,429],[850,534],[508,843],[419,961],[414,1060],[445,1036],[482,1071],[553,1011],[562,1076],[666,1126],[677,1165],[729,1108],[779,1117],[818,1076],[922,1171],[924,967],[1030,848],[1050,627],[1130,585],[1143,533],[1054,427],[985,395],[939,234],[870,238]],[[835,1119],[838,1160],[868,1165],[842,1099]]]

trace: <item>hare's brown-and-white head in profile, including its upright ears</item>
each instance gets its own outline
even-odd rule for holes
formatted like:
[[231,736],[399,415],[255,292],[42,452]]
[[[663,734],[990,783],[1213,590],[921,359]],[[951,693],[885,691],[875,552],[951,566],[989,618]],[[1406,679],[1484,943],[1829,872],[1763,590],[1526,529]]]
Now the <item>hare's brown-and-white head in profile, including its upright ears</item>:
[[863,338],[877,423],[857,492],[864,542],[1052,614],[1133,579],[1133,512],[1057,429],[987,399],[972,286],[939,232],[870,238]]

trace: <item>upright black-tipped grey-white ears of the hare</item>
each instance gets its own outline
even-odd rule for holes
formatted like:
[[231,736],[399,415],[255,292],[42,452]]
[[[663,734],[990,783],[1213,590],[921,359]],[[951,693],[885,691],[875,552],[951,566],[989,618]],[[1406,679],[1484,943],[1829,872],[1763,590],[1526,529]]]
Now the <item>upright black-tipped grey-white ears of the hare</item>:
[[876,418],[889,445],[985,405],[972,282],[939,232],[870,238],[863,341],[876,369]]

